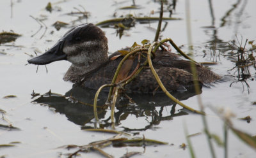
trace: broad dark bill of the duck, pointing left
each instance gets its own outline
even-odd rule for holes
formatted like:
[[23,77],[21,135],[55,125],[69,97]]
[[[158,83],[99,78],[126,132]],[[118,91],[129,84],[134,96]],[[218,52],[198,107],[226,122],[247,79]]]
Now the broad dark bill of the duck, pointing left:
[[50,50],[47,50],[44,54],[28,60],[29,64],[45,65],[54,61],[67,60],[67,55],[62,52],[62,42],[58,42]]

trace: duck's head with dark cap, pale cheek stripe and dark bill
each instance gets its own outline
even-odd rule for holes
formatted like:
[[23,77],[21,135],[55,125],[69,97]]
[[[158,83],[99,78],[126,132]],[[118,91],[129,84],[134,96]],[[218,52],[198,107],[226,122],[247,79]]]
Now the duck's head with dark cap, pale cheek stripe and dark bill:
[[93,62],[108,60],[108,39],[104,32],[93,24],[73,27],[44,54],[28,60],[29,64],[45,65],[67,60],[74,66],[90,66]]

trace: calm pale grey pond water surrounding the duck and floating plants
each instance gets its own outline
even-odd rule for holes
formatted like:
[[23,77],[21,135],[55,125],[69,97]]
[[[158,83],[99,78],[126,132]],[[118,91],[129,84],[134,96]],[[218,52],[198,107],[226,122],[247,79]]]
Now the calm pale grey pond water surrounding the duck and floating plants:
[[[177,45],[182,46],[181,48],[185,52],[188,52],[188,43],[192,43],[196,61],[218,62],[218,64],[210,66],[212,71],[222,76],[228,76],[226,82],[215,83],[211,88],[203,87],[202,94],[200,94],[207,113],[209,131],[223,140],[223,120],[212,111],[212,108],[223,108],[234,113],[235,117],[231,119],[234,127],[255,136],[256,106],[253,104],[256,102],[255,68],[253,66],[249,68],[251,77],[246,80],[246,83],[250,87],[246,86],[245,82],[236,82],[237,68],[232,69],[236,66],[236,63],[232,61],[236,59],[228,56],[228,51],[223,52],[227,48],[223,45],[227,45],[226,42],[233,40],[236,41],[236,45],[239,45],[239,42],[244,45],[246,39],[249,41],[256,39],[255,31],[253,31],[253,28],[256,27],[256,1],[212,0],[212,7],[209,2],[207,0],[190,1],[191,27],[188,27],[186,24],[189,21],[186,18],[186,1],[177,1],[172,17],[181,19],[163,22],[163,25],[167,25],[166,29],[161,32],[161,39],[172,38]],[[35,56],[34,52],[44,53],[73,25],[86,22],[97,24],[102,20],[114,18],[114,15],[116,17],[127,14],[137,17],[159,17],[159,2],[136,1],[136,5],[140,6],[139,9],[120,10],[121,7],[131,6],[132,1],[51,1],[53,8],[51,13],[45,10],[48,1],[13,0],[12,3],[11,7],[10,1],[0,2],[0,29],[14,31],[22,36],[11,43],[0,44],[0,110],[5,111],[5,113],[0,111],[3,115],[0,124],[7,126],[12,124],[19,130],[9,130],[1,126],[0,145],[14,142],[15,147],[0,147],[0,157],[3,155],[5,157],[67,157],[65,154],[76,150],[59,147],[87,145],[93,141],[106,140],[115,136],[115,134],[109,133],[83,131],[83,128],[94,126],[92,108],[60,97],[66,93],[68,96],[74,90],[72,83],[62,80],[70,66],[69,62],[51,63],[47,65],[46,72],[45,66],[39,66],[36,70],[36,66],[26,65],[27,60],[31,59],[29,55]],[[167,6],[164,4],[165,9]],[[84,8],[90,13],[89,17],[77,20],[77,16],[68,15],[72,11],[76,12],[76,8],[81,11]],[[164,17],[169,15],[168,11],[164,12]],[[38,22],[30,16],[42,20],[44,23],[41,24],[42,29]],[[61,27],[57,31],[52,26],[57,20],[67,22],[67,27]],[[143,39],[153,40],[156,28],[157,22],[150,22],[150,24],[137,22],[134,27],[124,31],[121,39],[116,36],[116,30],[113,28],[102,28],[102,30],[108,37],[109,52],[115,52],[120,48],[131,46],[134,41],[140,43]],[[190,41],[187,34],[188,28],[191,32]],[[36,33],[36,31],[38,32]],[[250,45],[247,44],[246,48],[249,49]],[[70,89],[72,90],[68,92]],[[45,94],[51,90],[60,95],[52,96],[51,99],[47,96],[37,96],[31,99],[33,90],[39,94]],[[75,90],[78,96],[79,90]],[[86,94],[81,95],[81,99],[86,96],[88,100],[92,101],[94,94],[90,96],[87,95],[87,92],[90,94],[90,90],[85,91]],[[81,93],[84,91],[82,90]],[[4,98],[9,95],[16,97]],[[41,99],[36,101],[38,103],[33,102],[38,98]],[[172,106],[159,106],[160,104],[154,102],[150,97],[144,99],[148,103],[147,106],[138,104],[131,105],[131,108],[116,109],[116,119],[119,119],[116,130],[126,130],[136,133],[136,136],[140,138],[145,136],[145,138],[169,144],[146,146],[145,148],[109,146],[103,149],[105,152],[115,157],[121,157],[127,152],[144,152],[134,157],[190,157],[189,148],[180,148],[182,143],[187,144],[184,132],[187,129],[188,134],[202,133],[190,138],[196,157],[211,157],[200,115],[189,113],[186,110],[179,111],[182,109],[179,105],[176,106],[175,113],[172,113]],[[183,103],[199,109],[198,97],[183,99],[185,99],[182,101]],[[162,99],[162,101],[166,100],[165,97]],[[168,104],[170,103],[166,103],[166,105]],[[110,110],[105,110],[99,115],[102,120],[108,119],[109,116]],[[246,116],[252,118],[250,123],[239,120]],[[107,123],[102,126],[110,128],[107,127]],[[83,128],[81,129],[81,127]],[[223,147],[219,147],[216,143],[213,144],[216,157],[223,157]],[[252,147],[239,140],[231,131],[228,132],[228,157],[255,157],[255,154]],[[84,157],[100,156],[95,152],[82,155]]]

